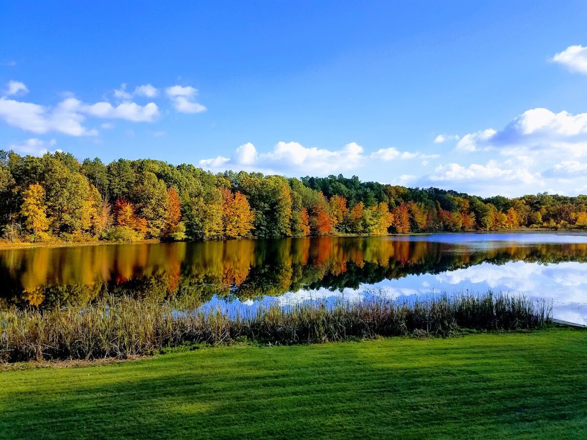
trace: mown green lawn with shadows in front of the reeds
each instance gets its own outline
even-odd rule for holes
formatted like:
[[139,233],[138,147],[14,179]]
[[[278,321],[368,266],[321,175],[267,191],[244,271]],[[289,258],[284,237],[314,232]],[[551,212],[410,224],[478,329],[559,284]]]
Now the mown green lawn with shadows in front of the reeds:
[[0,373],[0,438],[587,438],[587,331]]

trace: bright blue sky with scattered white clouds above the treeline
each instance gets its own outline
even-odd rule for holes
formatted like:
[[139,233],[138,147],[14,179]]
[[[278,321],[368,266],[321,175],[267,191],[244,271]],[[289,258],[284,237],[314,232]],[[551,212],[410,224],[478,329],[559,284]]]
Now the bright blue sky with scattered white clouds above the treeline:
[[587,192],[585,2],[96,3],[0,5],[0,148]]

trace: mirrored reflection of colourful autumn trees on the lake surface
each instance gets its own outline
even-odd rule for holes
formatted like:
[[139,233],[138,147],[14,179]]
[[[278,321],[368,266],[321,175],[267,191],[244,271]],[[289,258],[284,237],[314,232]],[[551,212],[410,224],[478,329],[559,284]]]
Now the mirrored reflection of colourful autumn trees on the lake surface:
[[[439,236],[436,236],[439,237]],[[447,237],[449,240],[447,240]],[[247,300],[300,289],[359,288],[408,275],[438,274],[483,262],[587,261],[587,240],[484,243],[434,235],[139,243],[0,252],[0,306],[67,306],[100,295],[151,300],[214,296]]]

